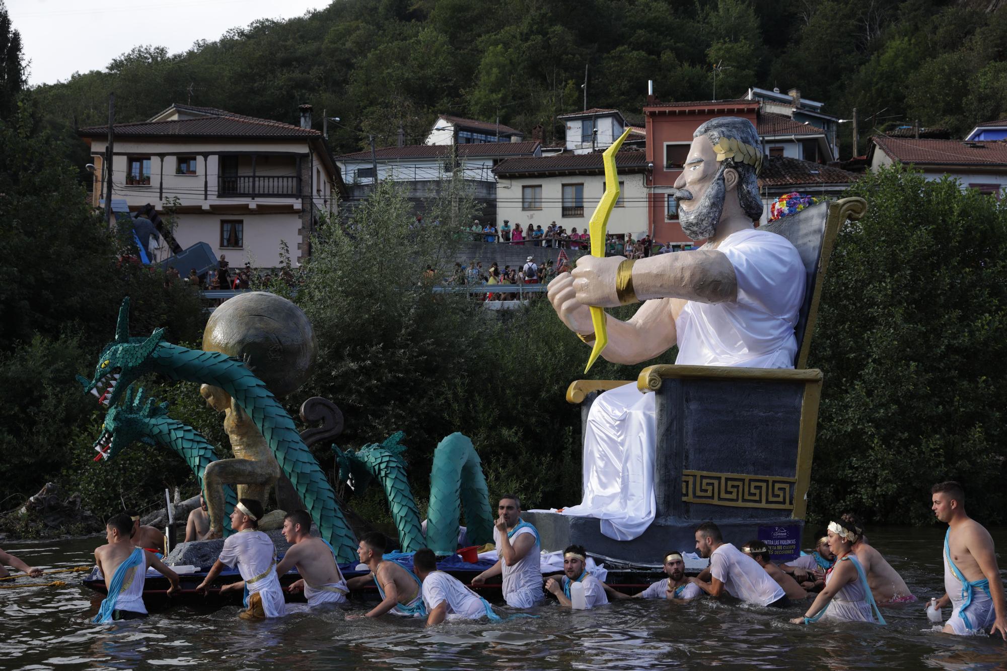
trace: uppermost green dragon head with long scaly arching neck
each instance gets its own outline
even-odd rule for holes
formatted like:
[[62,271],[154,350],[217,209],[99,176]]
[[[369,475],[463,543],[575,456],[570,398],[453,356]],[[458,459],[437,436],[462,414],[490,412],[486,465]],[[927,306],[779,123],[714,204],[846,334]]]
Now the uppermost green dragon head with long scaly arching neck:
[[252,418],[284,475],[300,495],[321,537],[336,549],[339,561],[355,557],[356,540],[346,524],[332,487],[307,446],[290,415],[242,361],[217,352],[202,352],[163,342],[164,329],[149,338],[129,336],[129,297],[119,308],[115,340],[105,347],[94,378],[86,379],[85,393],[96,393],[99,401],[114,406],[124,388],[146,373],[159,373],[172,380],[213,385],[232,398]]

